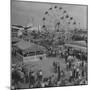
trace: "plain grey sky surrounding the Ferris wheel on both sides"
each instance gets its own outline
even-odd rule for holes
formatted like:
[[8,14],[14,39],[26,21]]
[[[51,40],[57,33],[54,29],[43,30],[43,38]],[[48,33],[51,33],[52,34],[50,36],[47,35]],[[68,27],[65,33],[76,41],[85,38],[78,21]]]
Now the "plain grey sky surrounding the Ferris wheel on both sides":
[[44,12],[55,5],[62,6],[70,16],[74,17],[76,22],[80,23],[81,28],[87,29],[87,6],[16,0],[11,2],[11,24],[26,26],[32,23],[36,26],[41,25]]

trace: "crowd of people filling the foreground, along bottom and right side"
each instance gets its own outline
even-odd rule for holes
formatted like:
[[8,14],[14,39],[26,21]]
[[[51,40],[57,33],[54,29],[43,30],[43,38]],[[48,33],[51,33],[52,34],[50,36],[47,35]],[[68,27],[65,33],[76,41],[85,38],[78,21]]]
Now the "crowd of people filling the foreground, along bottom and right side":
[[[24,63],[12,66],[12,86],[21,88],[19,83],[28,83],[28,88],[42,88],[68,85],[87,85],[87,54],[72,48],[66,48],[60,53],[60,59],[64,58],[65,69],[57,61],[54,61],[52,66],[54,74],[50,77],[43,77],[42,69],[30,71]],[[69,73],[69,77],[66,78]]]

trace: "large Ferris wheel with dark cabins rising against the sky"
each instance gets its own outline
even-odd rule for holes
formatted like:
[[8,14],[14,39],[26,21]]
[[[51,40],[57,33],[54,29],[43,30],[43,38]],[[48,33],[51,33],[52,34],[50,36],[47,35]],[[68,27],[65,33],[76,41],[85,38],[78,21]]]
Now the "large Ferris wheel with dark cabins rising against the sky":
[[44,12],[42,18],[43,25],[42,27],[47,30],[73,30],[79,28],[80,23],[76,22],[74,17],[69,15],[61,6],[51,6],[47,11]]

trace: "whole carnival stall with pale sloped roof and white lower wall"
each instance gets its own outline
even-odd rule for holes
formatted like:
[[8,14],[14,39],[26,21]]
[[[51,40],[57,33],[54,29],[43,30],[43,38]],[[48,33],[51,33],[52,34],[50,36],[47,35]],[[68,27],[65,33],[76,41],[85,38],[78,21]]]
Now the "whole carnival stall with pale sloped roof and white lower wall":
[[16,57],[23,62],[40,60],[46,57],[45,48],[34,43],[21,40],[16,44]]

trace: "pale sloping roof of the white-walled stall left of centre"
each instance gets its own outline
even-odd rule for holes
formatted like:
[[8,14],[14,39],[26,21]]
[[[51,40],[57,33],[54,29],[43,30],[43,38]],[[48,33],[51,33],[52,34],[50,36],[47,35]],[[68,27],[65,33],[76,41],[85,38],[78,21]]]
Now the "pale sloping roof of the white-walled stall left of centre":
[[43,46],[31,43],[29,41],[24,41],[21,40],[16,44],[17,48],[20,50],[24,51],[30,51],[30,52],[35,52],[35,51],[45,51],[46,49]]

